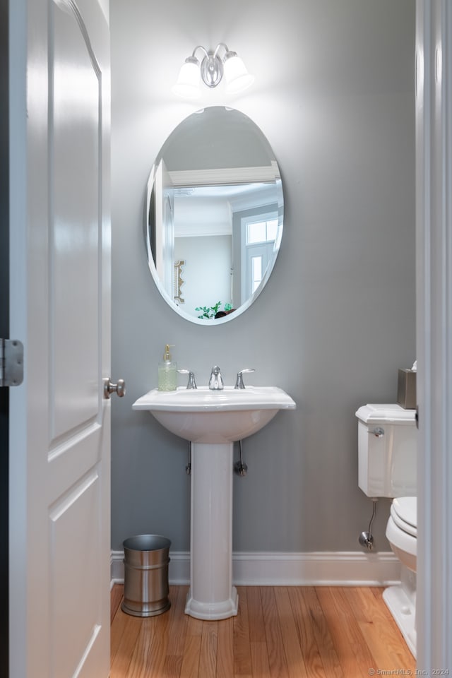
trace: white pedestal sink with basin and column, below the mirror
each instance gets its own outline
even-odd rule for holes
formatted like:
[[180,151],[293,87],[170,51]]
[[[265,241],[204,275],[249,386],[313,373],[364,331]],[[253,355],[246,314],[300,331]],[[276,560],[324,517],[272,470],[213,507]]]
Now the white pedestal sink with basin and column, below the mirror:
[[197,619],[237,614],[232,585],[234,441],[251,436],[295,402],[277,386],[152,391],[133,403],[172,433],[191,441],[190,590],[185,612]]

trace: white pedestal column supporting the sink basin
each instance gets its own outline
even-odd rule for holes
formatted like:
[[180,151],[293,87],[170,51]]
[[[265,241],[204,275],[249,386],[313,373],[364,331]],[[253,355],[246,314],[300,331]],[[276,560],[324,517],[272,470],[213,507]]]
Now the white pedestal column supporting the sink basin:
[[191,557],[186,614],[227,619],[237,614],[232,586],[234,444],[191,444]]

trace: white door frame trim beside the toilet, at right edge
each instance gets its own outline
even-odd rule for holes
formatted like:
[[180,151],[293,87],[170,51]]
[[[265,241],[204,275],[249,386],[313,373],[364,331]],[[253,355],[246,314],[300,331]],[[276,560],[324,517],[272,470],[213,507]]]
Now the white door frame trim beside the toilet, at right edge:
[[[417,668],[452,671],[452,3],[416,3]],[[443,537],[444,535],[444,537]]]

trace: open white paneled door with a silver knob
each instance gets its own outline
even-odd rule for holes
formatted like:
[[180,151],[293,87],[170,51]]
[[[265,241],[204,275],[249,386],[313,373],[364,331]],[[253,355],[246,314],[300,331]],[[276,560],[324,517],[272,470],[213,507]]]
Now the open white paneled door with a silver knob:
[[109,674],[109,30],[11,0],[10,677]]

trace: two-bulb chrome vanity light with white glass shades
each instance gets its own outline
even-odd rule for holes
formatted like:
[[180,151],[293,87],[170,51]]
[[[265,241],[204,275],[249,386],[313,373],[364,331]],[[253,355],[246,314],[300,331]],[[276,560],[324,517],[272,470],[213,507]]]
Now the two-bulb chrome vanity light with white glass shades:
[[[204,55],[201,61],[196,57],[198,49]],[[223,57],[219,56],[220,49],[225,52]],[[198,44],[191,57],[185,59],[172,91],[180,97],[196,99],[201,96],[201,80],[214,88],[222,81],[223,75],[228,93],[241,92],[254,82],[254,76],[248,73],[242,59],[227,44],[220,42],[214,52],[208,52],[202,44]]]

